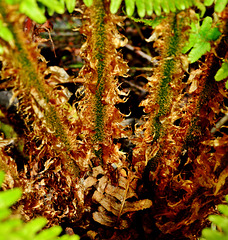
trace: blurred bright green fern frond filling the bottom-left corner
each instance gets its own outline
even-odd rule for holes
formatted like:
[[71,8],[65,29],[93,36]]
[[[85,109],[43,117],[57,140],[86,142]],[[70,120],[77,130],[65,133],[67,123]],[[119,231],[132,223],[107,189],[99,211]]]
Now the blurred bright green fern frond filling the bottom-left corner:
[[[3,180],[4,173],[0,171],[0,187]],[[60,226],[42,230],[47,223],[47,220],[43,217],[24,223],[21,219],[10,216],[9,207],[16,203],[21,194],[22,191],[19,188],[0,192],[0,240],[79,240],[77,235],[58,237],[62,232]]]

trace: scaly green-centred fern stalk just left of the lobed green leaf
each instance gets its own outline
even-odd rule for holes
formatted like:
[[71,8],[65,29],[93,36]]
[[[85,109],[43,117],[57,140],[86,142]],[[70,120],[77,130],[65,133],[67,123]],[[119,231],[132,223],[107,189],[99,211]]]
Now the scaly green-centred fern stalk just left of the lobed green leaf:
[[[169,22],[168,22],[169,21]],[[161,65],[155,70],[155,74],[149,78],[148,90],[150,95],[142,102],[145,112],[149,113],[149,119],[139,130],[145,129],[145,137],[138,143],[135,149],[135,160],[145,156],[148,173],[155,167],[159,158],[163,155],[163,139],[170,125],[168,116],[171,113],[173,102],[181,91],[181,71],[177,66],[180,64],[178,57],[181,49],[182,15],[174,15],[169,20],[163,20],[164,46],[162,48]],[[168,30],[167,30],[168,29]],[[159,46],[161,47],[161,46]],[[156,146],[156,147],[155,147]],[[151,150],[148,150],[151,149]],[[153,151],[152,151],[153,149]],[[138,156],[140,153],[140,156]]]

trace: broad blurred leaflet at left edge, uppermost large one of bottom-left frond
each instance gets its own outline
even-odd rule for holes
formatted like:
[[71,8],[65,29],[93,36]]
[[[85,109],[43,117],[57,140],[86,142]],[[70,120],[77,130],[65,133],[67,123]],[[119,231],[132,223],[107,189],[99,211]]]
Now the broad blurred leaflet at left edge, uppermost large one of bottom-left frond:
[[19,188],[0,192],[0,209],[13,205],[21,197],[21,194],[22,191]]

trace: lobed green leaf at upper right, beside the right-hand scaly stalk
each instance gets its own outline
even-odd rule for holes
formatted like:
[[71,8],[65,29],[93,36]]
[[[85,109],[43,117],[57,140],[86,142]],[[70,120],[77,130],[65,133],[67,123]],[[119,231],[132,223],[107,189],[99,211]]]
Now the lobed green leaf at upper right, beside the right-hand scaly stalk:
[[191,50],[188,59],[191,63],[196,62],[207,51],[210,51],[210,41],[217,40],[220,35],[221,32],[218,28],[212,28],[211,17],[206,17],[201,26],[199,22],[191,23],[189,42],[186,44],[186,47],[184,47],[183,53]]

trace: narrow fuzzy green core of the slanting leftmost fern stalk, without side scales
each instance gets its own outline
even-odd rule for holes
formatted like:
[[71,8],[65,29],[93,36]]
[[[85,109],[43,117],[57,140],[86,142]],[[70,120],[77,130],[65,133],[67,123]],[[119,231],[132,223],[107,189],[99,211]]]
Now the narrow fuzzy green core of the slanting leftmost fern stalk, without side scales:
[[[7,19],[7,12],[4,2],[0,3],[0,13],[4,16],[4,21],[8,24],[9,29],[11,30],[14,36],[14,43],[15,49],[12,50],[13,55],[13,64],[18,69],[19,72],[19,81],[23,86],[25,94],[30,95],[31,89],[35,89],[38,94],[39,98],[41,99],[45,120],[47,121],[47,125],[54,131],[54,136],[60,140],[60,142],[64,145],[65,151],[61,152],[64,155],[64,158],[67,159],[70,167],[67,167],[68,170],[73,175],[79,175],[79,168],[76,166],[75,163],[69,157],[69,152],[72,149],[70,140],[68,139],[68,135],[66,130],[64,129],[63,122],[57,112],[57,110],[50,104],[51,97],[49,96],[49,91],[47,87],[45,87],[42,77],[39,76],[38,73],[38,65],[34,62],[33,57],[31,56],[32,52],[30,52],[25,43],[25,38],[23,38],[23,32],[20,30],[20,27],[17,26],[17,23],[11,23]],[[57,152],[59,150],[56,150]],[[75,167],[72,167],[74,166]],[[72,170],[72,168],[74,170]],[[77,171],[75,173],[74,171]],[[73,171],[73,172],[72,172]]]

